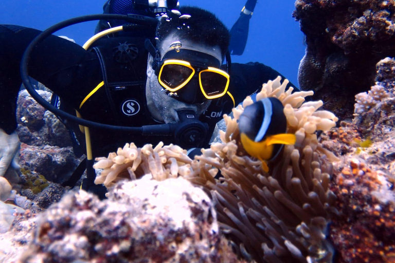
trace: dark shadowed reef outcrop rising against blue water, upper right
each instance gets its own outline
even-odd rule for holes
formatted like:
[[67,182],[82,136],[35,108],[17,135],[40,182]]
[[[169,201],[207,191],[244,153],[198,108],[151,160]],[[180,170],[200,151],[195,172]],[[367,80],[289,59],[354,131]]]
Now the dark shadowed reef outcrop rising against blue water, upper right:
[[299,86],[351,119],[354,95],[374,85],[376,63],[395,57],[395,2],[297,0],[295,9],[307,43]]

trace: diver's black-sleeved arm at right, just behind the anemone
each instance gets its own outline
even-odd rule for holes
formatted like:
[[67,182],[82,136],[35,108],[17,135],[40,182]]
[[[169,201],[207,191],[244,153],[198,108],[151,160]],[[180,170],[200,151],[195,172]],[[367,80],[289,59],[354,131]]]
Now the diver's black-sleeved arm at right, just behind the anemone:
[[[236,105],[242,102],[245,97],[260,90],[263,83],[274,80],[278,76],[282,80],[285,79],[278,71],[258,62],[232,63],[230,76],[229,92],[235,97]],[[291,86],[298,89],[291,82],[287,85],[287,88]]]

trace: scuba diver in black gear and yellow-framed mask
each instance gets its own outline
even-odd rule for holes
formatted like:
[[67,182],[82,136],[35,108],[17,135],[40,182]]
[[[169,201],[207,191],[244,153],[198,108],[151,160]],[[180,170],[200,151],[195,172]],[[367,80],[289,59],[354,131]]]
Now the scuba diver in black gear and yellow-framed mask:
[[[78,123],[60,115],[75,152],[86,144],[83,188],[101,197],[104,187],[93,183],[95,157],[129,142],[207,147],[224,114],[262,83],[283,77],[261,63],[230,63],[229,31],[211,12],[188,6],[162,11],[152,15],[154,25],[126,25],[123,30],[133,35],[101,37],[88,47],[55,35],[32,45],[41,31],[0,25],[0,176],[18,168],[15,109],[22,80],[28,89],[26,70],[56,94],[54,108],[73,112],[81,122],[100,123],[85,128],[84,135]],[[23,57],[30,42],[32,51]],[[117,129],[106,128],[110,125]]]

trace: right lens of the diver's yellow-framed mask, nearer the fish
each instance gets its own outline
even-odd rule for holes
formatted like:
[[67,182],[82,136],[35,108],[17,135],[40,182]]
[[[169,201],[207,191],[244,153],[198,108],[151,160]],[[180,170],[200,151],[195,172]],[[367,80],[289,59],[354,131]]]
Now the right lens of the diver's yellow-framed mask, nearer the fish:
[[225,93],[228,83],[228,79],[225,76],[216,72],[202,71],[200,78],[206,97],[211,98]]

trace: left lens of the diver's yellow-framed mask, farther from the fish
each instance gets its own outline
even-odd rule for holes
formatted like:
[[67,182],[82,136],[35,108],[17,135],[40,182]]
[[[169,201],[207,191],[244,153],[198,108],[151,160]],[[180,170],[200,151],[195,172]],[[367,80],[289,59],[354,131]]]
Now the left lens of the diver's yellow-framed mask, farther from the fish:
[[168,64],[163,66],[159,78],[169,88],[174,89],[188,80],[192,72],[193,70],[186,66]]

